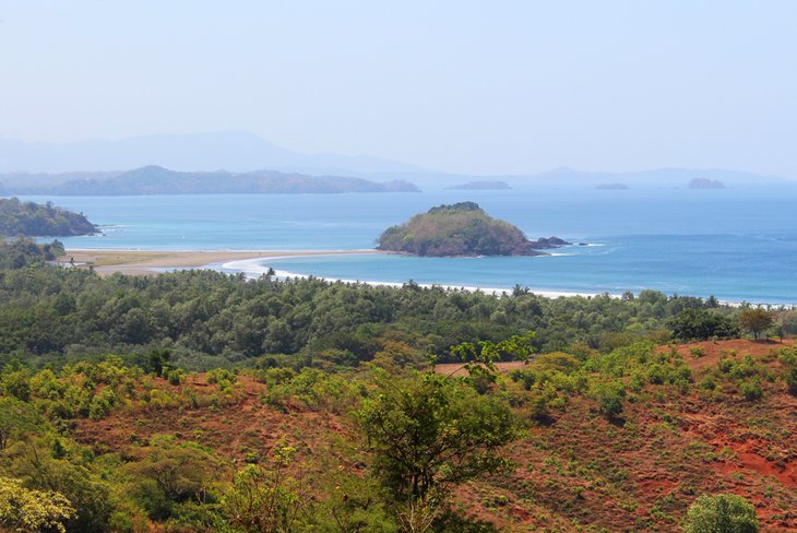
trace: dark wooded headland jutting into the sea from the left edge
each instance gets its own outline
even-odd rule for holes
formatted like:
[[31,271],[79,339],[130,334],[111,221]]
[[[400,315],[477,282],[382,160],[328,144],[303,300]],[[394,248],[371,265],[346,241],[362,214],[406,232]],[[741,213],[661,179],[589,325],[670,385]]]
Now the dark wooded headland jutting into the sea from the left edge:
[[25,237],[71,237],[99,233],[82,213],[57,208],[50,202],[0,199],[0,235]]

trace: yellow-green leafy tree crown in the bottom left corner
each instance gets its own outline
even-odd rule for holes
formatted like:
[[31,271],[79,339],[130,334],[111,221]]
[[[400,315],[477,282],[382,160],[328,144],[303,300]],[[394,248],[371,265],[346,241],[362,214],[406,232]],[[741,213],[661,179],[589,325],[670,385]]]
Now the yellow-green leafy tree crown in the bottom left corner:
[[74,513],[60,493],[25,488],[19,479],[0,477],[0,531],[67,531]]

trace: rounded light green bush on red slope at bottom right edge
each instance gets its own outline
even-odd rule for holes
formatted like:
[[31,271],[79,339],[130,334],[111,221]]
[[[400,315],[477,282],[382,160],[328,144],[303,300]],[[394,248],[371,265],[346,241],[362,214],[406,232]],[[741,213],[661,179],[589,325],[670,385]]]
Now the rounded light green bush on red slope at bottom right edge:
[[687,511],[686,533],[754,533],[759,530],[756,508],[734,494],[702,495]]

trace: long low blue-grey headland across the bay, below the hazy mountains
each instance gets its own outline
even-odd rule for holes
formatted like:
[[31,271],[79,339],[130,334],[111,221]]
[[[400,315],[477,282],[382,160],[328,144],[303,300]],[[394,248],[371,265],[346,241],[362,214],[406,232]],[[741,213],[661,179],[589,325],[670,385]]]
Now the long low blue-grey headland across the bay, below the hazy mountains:
[[151,165],[124,173],[67,175],[0,175],[12,194],[143,196],[143,194],[300,194],[341,192],[418,192],[408,181],[377,182],[343,176],[306,176],[274,170],[234,174],[181,173]]

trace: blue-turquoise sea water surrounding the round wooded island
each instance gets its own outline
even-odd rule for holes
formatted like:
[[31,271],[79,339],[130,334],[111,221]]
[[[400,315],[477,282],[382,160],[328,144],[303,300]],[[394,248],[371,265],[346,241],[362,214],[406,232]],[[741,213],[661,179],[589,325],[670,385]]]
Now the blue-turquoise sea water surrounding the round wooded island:
[[73,248],[340,250],[432,205],[478,202],[532,238],[574,242],[555,257],[408,258],[383,254],[270,260],[275,270],[330,279],[578,293],[715,295],[797,303],[797,185],[768,190],[516,189],[423,193],[26,197],[52,200],[103,225]]

